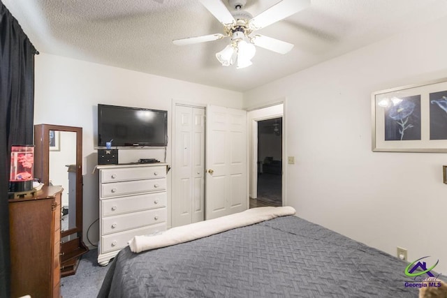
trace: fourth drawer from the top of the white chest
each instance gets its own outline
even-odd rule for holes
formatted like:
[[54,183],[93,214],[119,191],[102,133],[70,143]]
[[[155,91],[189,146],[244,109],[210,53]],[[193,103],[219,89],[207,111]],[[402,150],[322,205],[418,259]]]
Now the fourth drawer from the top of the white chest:
[[101,234],[122,232],[166,222],[166,207],[101,218]]

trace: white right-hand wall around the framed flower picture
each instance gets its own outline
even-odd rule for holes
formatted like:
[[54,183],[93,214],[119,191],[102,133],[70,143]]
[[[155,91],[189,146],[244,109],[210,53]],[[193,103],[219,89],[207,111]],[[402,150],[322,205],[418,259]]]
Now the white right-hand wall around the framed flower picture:
[[371,94],[447,77],[445,28],[447,18],[244,94],[247,108],[286,98],[287,202],[298,216],[392,255],[402,246],[411,261],[430,255],[444,274],[447,156],[372,152]]

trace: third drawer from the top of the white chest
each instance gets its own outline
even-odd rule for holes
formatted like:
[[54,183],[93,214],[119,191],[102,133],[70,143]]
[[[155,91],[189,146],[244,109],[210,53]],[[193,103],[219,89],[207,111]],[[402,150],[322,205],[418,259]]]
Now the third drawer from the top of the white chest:
[[128,212],[166,207],[166,197],[166,192],[163,192],[101,200],[101,216],[115,216]]

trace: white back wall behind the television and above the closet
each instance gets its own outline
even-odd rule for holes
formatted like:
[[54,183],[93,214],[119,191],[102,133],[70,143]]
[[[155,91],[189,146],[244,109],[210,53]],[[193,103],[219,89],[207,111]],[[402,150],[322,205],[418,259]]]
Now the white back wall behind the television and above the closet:
[[[156,75],[138,73],[122,68],[92,64],[41,53],[36,56],[36,87],[34,124],[57,124],[82,127],[82,157],[84,179],[83,228],[98,218],[98,177],[93,174],[97,161],[97,105],[125,105],[168,110],[168,137],[171,137],[172,101],[242,107],[239,92],[192,84]],[[158,158],[163,150],[122,150],[119,162],[139,158]],[[170,163],[170,144],[166,162]],[[168,174],[170,186],[170,173]],[[170,201],[170,196],[168,198]],[[170,209],[168,209],[170,225]],[[98,241],[98,223],[92,225],[89,239]]]

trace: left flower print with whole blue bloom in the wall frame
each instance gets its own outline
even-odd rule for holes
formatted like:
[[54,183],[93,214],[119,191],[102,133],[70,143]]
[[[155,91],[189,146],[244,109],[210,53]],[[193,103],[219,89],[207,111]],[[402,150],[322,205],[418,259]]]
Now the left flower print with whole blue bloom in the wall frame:
[[385,111],[385,140],[420,140],[420,95],[390,101]]

